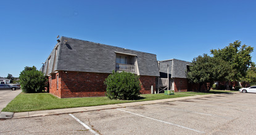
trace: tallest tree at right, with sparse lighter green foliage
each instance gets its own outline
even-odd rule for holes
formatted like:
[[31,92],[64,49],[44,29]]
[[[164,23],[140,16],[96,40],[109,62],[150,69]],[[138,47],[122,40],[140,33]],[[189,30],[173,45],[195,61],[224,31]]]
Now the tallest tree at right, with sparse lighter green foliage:
[[[240,48],[239,48],[240,47]],[[222,49],[210,50],[215,58],[219,58],[228,63],[232,69],[228,75],[229,81],[240,81],[246,76],[250,64],[252,64],[252,56],[250,53],[254,51],[254,47],[242,45],[240,41],[230,43]]]

